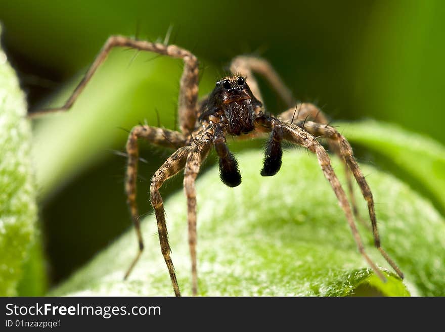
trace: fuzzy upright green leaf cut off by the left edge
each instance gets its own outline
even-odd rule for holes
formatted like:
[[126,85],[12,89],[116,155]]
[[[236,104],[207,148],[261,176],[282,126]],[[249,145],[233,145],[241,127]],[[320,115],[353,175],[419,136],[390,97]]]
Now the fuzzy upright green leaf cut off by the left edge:
[[[30,262],[30,247],[37,236],[30,141],[25,96],[0,49],[0,296],[18,295],[24,265]],[[28,283],[31,287],[40,281]]]

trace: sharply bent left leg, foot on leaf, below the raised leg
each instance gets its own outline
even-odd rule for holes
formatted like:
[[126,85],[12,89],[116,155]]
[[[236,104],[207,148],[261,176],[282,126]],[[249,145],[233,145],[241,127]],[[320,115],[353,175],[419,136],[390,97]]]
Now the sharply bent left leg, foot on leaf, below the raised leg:
[[[136,203],[136,194],[137,194],[136,180],[138,177],[137,175],[138,175],[138,159],[139,159],[138,138],[144,138],[152,144],[169,148],[177,149],[185,145],[185,138],[183,134],[181,134],[180,132],[156,128],[156,127],[136,126],[131,130],[130,134],[128,135],[128,140],[126,144],[128,161],[127,161],[127,170],[125,179],[125,193],[127,195],[127,204],[131,214],[131,219],[133,221],[133,224],[135,225],[136,233],[138,236],[139,251],[135,259],[133,259],[133,261],[131,262],[127,272],[125,273],[124,279],[128,277],[131,270],[136,265],[139,257],[141,256],[142,251],[144,250],[144,242],[141,234],[138,206]],[[182,151],[182,150],[180,149],[177,151]],[[175,152],[175,154],[178,154],[178,152]],[[173,154],[173,156],[175,154]]]

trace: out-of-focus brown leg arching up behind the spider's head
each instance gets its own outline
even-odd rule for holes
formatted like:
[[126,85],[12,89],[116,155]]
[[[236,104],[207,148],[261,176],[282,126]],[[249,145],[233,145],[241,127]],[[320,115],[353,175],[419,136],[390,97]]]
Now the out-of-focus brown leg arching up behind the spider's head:
[[271,64],[264,59],[251,56],[239,56],[232,60],[230,70],[234,74],[241,74],[247,77],[247,84],[258,100],[262,101],[261,92],[252,72],[264,76],[289,107],[294,103],[290,89],[284,84]]

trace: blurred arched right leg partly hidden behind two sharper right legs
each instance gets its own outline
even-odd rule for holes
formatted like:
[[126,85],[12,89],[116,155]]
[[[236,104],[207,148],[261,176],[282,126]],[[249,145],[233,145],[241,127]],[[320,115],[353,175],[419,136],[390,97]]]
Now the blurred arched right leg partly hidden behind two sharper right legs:
[[[314,104],[310,103],[299,103],[295,108],[290,108],[289,110],[281,113],[278,116],[279,119],[281,119],[283,122],[291,122],[296,123],[298,121],[307,121],[311,120],[317,123],[321,124],[328,124],[329,121],[326,118],[325,114]],[[306,126],[304,126],[305,129]],[[364,225],[366,228],[371,230],[371,227],[360,215],[359,209],[357,208],[357,202],[355,201],[354,197],[354,187],[352,184],[351,174],[350,170],[346,164],[346,161],[344,160],[342,154],[340,153],[340,146],[339,142],[337,140],[332,140],[328,138],[328,145],[329,150],[334,152],[342,161],[344,166],[344,172],[346,175],[346,183],[348,188],[348,194],[349,194],[349,201],[351,202],[352,212],[354,214],[355,219],[359,220],[359,222]]]

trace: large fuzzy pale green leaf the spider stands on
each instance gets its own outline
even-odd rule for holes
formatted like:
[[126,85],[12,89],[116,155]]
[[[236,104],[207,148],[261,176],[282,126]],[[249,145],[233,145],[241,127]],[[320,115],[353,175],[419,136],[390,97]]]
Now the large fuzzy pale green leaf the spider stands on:
[[[445,223],[406,184],[363,166],[371,173],[367,179],[377,203],[382,245],[406,275],[404,283],[394,276],[373,248],[370,232],[360,227],[367,251],[388,275],[382,283],[358,253],[314,156],[286,153],[282,170],[266,178],[259,175],[259,150],[238,158],[240,186],[226,187],[214,167],[196,184],[200,295],[342,296],[371,290],[405,296],[407,288],[416,295],[445,295]],[[342,169],[337,160],[334,166]],[[357,194],[366,216],[365,201],[359,198]],[[190,295],[184,194],[170,197],[165,211],[176,274],[183,294]],[[146,250],[127,281],[122,277],[137,250],[132,229],[51,295],[172,295],[154,216],[145,218],[142,228]]]

